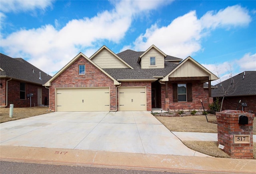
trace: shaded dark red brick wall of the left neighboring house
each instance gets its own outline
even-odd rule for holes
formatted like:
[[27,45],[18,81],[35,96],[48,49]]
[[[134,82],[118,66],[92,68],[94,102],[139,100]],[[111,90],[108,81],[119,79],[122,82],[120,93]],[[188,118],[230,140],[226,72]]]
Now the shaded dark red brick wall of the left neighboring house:
[[[6,80],[1,78],[2,82],[2,88],[0,88],[0,101],[1,106],[6,105]],[[8,105],[7,107],[10,107],[10,104],[14,104],[14,108],[24,108],[24,107],[30,107],[30,98],[27,97],[27,94],[34,94],[33,97],[31,97],[31,107],[38,106],[38,88],[42,89],[42,104],[44,105],[44,98],[47,98],[47,105],[48,105],[48,96],[49,96],[49,90],[46,89],[42,85],[27,83],[26,84],[26,91],[25,91],[25,99],[20,99],[20,82],[18,80],[10,80],[8,81]]]

